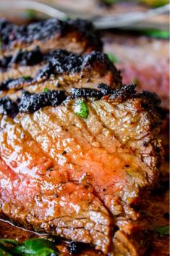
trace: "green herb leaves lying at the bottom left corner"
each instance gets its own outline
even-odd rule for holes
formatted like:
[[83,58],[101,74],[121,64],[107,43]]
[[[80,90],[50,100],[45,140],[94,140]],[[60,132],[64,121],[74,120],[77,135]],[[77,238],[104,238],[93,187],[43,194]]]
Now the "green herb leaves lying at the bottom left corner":
[[0,239],[0,255],[59,256],[59,250],[54,243],[46,239],[29,239],[23,243],[13,239]]

